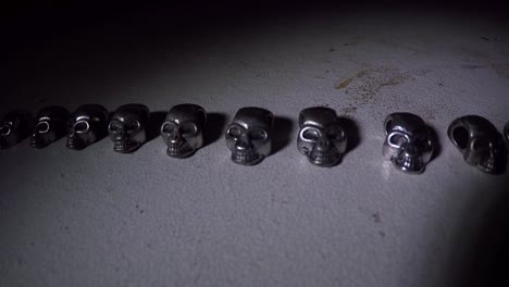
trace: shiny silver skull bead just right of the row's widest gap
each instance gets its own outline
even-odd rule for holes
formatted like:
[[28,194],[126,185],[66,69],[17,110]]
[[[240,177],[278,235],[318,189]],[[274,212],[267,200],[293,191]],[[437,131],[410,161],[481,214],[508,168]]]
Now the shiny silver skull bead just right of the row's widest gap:
[[430,162],[434,140],[424,121],[411,113],[393,113],[385,120],[383,154],[396,169],[422,173]]

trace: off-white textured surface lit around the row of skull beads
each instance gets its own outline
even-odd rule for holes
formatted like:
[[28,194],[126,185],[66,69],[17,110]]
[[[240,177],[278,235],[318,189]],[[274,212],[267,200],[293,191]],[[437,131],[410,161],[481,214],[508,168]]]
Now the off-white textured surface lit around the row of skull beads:
[[[129,28],[20,49],[0,113],[193,102],[214,113],[214,140],[186,160],[160,138],[134,154],[109,139],[0,151],[4,286],[456,286],[504,235],[484,228],[497,224],[508,175],[468,166],[446,136],[464,114],[509,121],[502,24],[353,11],[178,40]],[[219,134],[245,105],[270,109],[284,132],[250,167],[229,161]],[[336,167],[296,149],[297,115],[312,105],[357,124]],[[383,120],[396,111],[436,129],[440,152],[422,175],[383,161]]]

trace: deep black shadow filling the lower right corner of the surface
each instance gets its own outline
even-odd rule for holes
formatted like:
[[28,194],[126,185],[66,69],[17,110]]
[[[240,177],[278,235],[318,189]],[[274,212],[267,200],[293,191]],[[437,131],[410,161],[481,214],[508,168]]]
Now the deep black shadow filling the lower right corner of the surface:
[[[493,175],[487,175],[493,176]],[[468,220],[459,229],[459,241],[468,238],[469,244],[460,250],[460,255],[450,262],[459,266],[452,286],[509,286],[509,180],[498,187],[476,187],[481,192],[472,198],[470,214],[480,220]]]

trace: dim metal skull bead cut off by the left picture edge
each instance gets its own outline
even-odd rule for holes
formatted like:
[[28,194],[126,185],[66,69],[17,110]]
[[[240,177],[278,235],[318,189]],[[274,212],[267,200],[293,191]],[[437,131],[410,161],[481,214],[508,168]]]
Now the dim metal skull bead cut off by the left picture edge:
[[28,111],[9,112],[0,122],[0,148],[8,149],[30,135],[32,115]]

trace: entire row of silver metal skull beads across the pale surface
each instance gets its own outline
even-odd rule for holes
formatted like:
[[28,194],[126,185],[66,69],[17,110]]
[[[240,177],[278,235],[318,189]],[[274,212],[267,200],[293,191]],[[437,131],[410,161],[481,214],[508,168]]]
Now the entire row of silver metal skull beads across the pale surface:
[[[109,135],[113,150],[129,153],[147,140],[149,109],[131,103],[109,116],[99,104],[85,104],[74,113],[63,107],[39,111],[35,123],[27,111],[8,113],[0,126],[0,147],[10,148],[30,136],[30,146],[44,148],[66,135],[70,149],[82,150]],[[197,104],[178,104],[166,114],[160,127],[166,153],[187,158],[203,146],[207,112]],[[253,165],[271,153],[274,115],[262,108],[241,108],[226,129],[226,146],[232,161]],[[383,155],[395,167],[408,173],[422,173],[436,150],[437,141],[424,121],[411,113],[393,113],[384,123]],[[318,166],[336,165],[347,151],[348,134],[336,111],[324,107],[305,109],[299,114],[298,150]],[[452,121],[447,130],[451,142],[470,165],[486,173],[500,173],[507,162],[502,136],[486,118],[467,115]],[[509,145],[509,123],[504,129]]]

